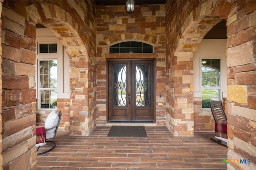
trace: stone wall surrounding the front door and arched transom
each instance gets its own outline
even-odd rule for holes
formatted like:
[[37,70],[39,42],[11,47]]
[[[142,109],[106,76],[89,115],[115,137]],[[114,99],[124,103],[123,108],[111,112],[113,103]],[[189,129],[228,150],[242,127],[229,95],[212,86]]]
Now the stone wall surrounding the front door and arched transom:
[[[136,5],[132,15],[126,6],[97,6],[97,124],[106,124],[106,59],[156,58],[156,123],[165,125],[165,5]],[[154,54],[108,54],[108,46],[124,40],[154,45]],[[160,97],[160,94],[162,97]]]

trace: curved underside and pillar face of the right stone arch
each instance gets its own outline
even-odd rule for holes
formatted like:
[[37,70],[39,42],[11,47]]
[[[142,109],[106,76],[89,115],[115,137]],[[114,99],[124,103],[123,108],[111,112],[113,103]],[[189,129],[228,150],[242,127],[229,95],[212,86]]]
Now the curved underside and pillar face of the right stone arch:
[[[196,22],[186,28],[174,51],[176,58],[175,63],[172,63],[174,64],[174,87],[177,87],[176,91],[180,91],[174,92],[174,102],[177,102],[177,105],[182,103],[184,106],[182,109],[180,107],[174,108],[174,114],[178,112],[181,115],[178,119],[171,120],[174,122],[174,134],[177,136],[194,135],[193,55],[205,34],[221,20],[215,16],[198,18]],[[180,67],[184,67],[184,70],[178,74]],[[181,88],[178,87],[178,83],[182,83]],[[186,121],[186,125],[183,124],[181,128],[179,122],[184,121]]]

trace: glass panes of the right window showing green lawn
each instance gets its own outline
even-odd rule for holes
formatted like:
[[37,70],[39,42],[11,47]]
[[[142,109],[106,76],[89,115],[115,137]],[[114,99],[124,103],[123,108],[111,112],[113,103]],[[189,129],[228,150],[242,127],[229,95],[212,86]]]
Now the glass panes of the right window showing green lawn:
[[202,109],[220,100],[220,59],[202,59]]

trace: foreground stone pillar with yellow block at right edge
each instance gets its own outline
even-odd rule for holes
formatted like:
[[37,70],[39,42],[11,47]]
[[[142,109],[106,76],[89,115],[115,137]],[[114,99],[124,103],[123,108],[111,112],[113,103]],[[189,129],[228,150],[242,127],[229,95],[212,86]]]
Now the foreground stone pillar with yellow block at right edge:
[[[227,19],[228,169],[256,169],[256,2],[238,1]],[[232,10],[231,10],[232,11]]]

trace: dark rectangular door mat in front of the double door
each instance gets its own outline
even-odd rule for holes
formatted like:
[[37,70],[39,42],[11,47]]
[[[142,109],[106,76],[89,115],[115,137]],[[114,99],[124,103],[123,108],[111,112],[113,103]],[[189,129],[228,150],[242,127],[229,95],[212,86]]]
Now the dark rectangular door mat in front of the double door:
[[148,137],[144,126],[112,126],[107,137]]

